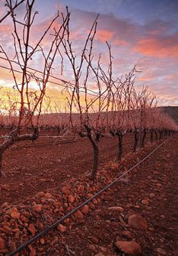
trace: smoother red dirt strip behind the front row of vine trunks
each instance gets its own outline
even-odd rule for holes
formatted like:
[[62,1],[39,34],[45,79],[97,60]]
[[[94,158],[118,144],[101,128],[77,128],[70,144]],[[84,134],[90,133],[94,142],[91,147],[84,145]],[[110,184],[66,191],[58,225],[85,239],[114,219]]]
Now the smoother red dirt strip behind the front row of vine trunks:
[[[33,144],[23,141],[5,152],[0,205],[6,201],[21,202],[27,196],[53,190],[62,186],[65,180],[91,172],[93,148],[87,139],[52,145],[54,141],[50,138],[39,138]],[[133,134],[126,134],[123,138],[123,155],[132,151],[132,147]],[[100,141],[100,166],[116,160],[117,152],[117,138],[103,138]]]

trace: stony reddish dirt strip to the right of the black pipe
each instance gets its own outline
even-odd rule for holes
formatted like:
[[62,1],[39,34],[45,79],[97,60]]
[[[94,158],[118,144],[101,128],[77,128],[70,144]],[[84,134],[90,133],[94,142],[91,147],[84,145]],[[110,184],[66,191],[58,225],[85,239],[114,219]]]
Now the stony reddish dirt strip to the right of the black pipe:
[[[118,240],[136,241],[141,245],[142,256],[178,255],[177,140],[175,134],[133,170],[128,180],[119,183],[117,192],[108,191],[102,204],[87,215],[85,222],[76,223],[72,232],[63,235],[46,255],[69,255],[68,249],[82,256],[123,255],[115,246]],[[109,209],[111,206],[120,206],[123,212]],[[127,225],[133,213],[146,219],[147,230]],[[131,238],[126,236],[126,231]]]

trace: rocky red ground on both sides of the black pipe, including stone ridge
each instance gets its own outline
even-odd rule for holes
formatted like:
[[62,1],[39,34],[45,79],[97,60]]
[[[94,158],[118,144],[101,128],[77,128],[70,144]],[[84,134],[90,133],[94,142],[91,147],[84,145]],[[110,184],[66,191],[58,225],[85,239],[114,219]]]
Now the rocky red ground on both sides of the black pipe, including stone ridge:
[[[139,167],[19,255],[176,256],[178,134]],[[105,164],[91,182],[86,175],[56,190],[4,203],[0,214],[0,255],[7,255],[150,153],[127,154]]]

